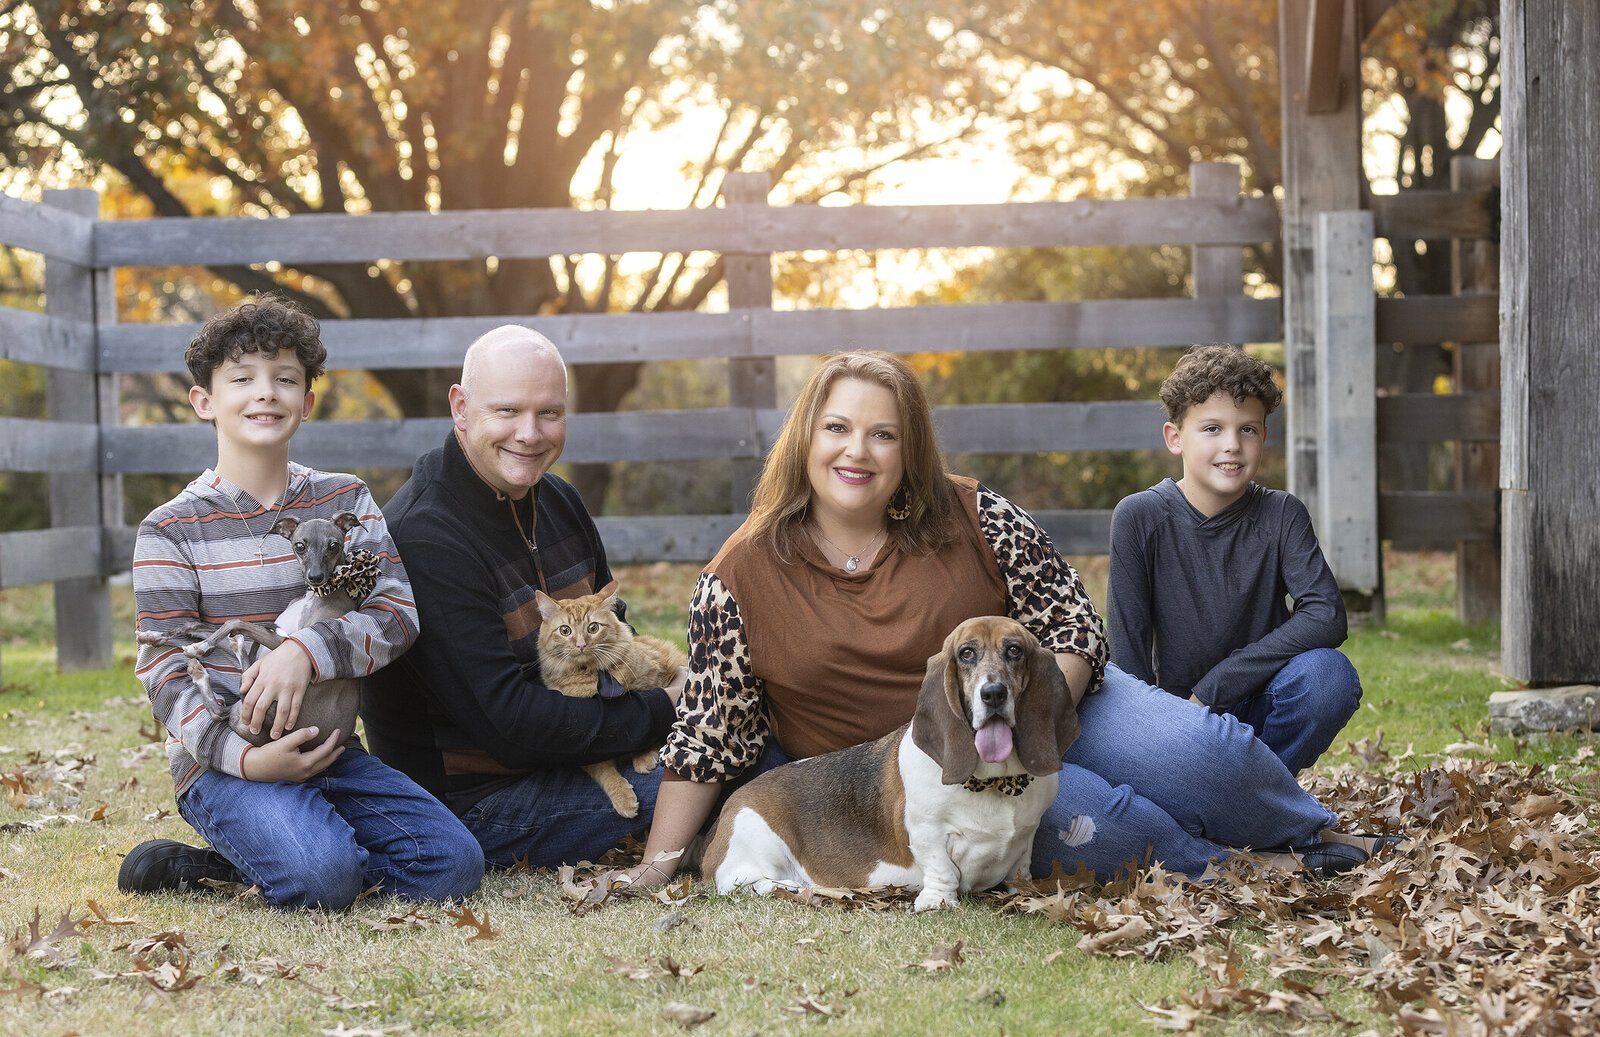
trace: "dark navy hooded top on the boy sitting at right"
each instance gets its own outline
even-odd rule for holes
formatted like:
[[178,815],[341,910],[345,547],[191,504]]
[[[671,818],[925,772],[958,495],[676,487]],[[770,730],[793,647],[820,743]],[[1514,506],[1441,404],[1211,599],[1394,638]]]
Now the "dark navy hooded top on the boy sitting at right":
[[1216,712],[1346,635],[1306,506],[1256,483],[1210,518],[1171,478],[1117,504],[1107,611],[1112,663]]

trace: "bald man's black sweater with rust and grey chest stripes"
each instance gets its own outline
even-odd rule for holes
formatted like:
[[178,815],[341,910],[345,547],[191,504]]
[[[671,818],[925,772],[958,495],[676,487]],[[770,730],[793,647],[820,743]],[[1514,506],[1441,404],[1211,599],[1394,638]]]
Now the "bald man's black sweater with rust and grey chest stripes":
[[384,763],[461,813],[517,775],[666,739],[674,709],[659,688],[579,699],[539,682],[533,592],[576,597],[611,579],[595,523],[568,483],[547,474],[509,501],[478,478],[451,434],[443,450],[422,454],[384,515],[422,626],[362,691],[366,739]]

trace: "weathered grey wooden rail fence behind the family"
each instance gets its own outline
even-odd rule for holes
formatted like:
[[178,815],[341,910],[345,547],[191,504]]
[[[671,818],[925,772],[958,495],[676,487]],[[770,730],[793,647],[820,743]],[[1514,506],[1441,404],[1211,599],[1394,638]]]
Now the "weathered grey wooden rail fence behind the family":
[[[605,517],[600,530],[616,562],[702,562],[739,522],[738,502],[782,419],[773,389],[773,358],[845,346],[891,352],[1104,349],[1187,346],[1192,342],[1280,341],[1278,299],[1243,293],[1242,246],[1274,242],[1278,218],[1270,198],[1240,195],[1229,163],[1192,168],[1187,198],[1118,202],[1040,202],[939,206],[768,206],[765,174],[739,174],[726,206],[690,211],[453,211],[368,216],[290,216],[282,219],[96,219],[93,192],[48,192],[43,205],[0,197],[0,243],[43,253],[43,314],[0,309],[0,357],[50,368],[46,421],[0,418],[0,469],[51,474],[48,530],[0,535],[0,587],[56,584],[58,658],[62,667],[110,661],[110,608],[106,579],[128,570],[133,528],[122,514],[120,478],[130,474],[194,474],[211,462],[206,426],[122,426],[117,379],[130,373],[181,371],[189,325],[118,323],[114,272],[133,266],[222,266],[280,262],[370,262],[619,254],[630,251],[722,253],[730,310],[723,314],[499,315],[418,320],[326,320],[323,341],[339,368],[458,366],[477,334],[517,322],[538,328],[568,363],[618,360],[726,358],[730,406],[677,411],[573,414],[563,461],[678,461],[731,458],[734,499],[723,515]],[[1344,214],[1339,214],[1344,216]],[[1365,334],[1406,338],[1408,326],[1454,326],[1474,301],[1373,301],[1371,219],[1339,254],[1347,267],[1344,304],[1374,310],[1365,325],[1330,312],[1330,326],[1349,339]],[[1117,246],[1181,245],[1194,250],[1194,294],[1178,299],[1091,299],[917,306],[864,310],[773,310],[771,254],[806,250],[942,246]],[[1354,256],[1354,259],[1352,259]],[[1488,302],[1493,325],[1493,302]],[[1470,322],[1466,322],[1470,323]],[[1480,331],[1477,325],[1464,328]],[[1432,331],[1429,334],[1434,334]],[[1472,336],[1453,334],[1467,341]],[[1493,336],[1490,336],[1493,338]],[[1472,339],[1477,341],[1477,339]],[[1328,354],[1347,354],[1328,349]],[[1354,350],[1360,354],[1362,350]],[[1370,360],[1370,355],[1368,355]],[[1368,363],[1370,366],[1370,363]],[[1325,384],[1333,384],[1330,373]],[[1373,419],[1368,384],[1358,406],[1325,402],[1323,414],[1352,426]],[[1382,403],[1389,435],[1456,438],[1488,429],[1482,408],[1406,400]],[[1290,400],[1294,406],[1294,400]],[[1342,408],[1342,410],[1341,410]],[[1448,411],[1448,413],[1446,413]],[[1354,416],[1354,418],[1352,418]],[[1075,402],[966,405],[939,408],[949,453],[1158,448],[1162,410],[1155,402]],[[435,446],[448,419],[312,422],[296,435],[294,458],[330,469],[408,467]],[[1328,424],[1325,419],[1323,424]],[[1274,435],[1282,424],[1274,422]],[[1438,429],[1445,429],[1440,432]],[[1350,429],[1347,427],[1347,432]],[[1282,440],[1280,440],[1282,442]],[[1360,464],[1333,454],[1328,478]],[[1357,472],[1360,486],[1371,469]],[[1341,483],[1344,485],[1344,483]],[[1371,483],[1374,486],[1376,483]],[[1323,531],[1330,557],[1376,557],[1376,491],[1355,490],[1350,515]],[[1003,490],[1003,488],[1002,488]],[[1363,496],[1365,493],[1365,496]],[[1403,546],[1491,536],[1477,512],[1462,515],[1446,501],[1445,518],[1418,518],[1430,501],[1386,501],[1384,536]],[[1066,554],[1104,554],[1110,512],[1040,510],[1042,525]],[[134,520],[138,517],[133,517]],[[1462,520],[1464,518],[1464,520]],[[1341,544],[1354,544],[1346,549]],[[1365,554],[1363,554],[1365,552]],[[1336,571],[1346,563],[1341,562]],[[1358,567],[1357,567],[1358,568]],[[1339,573],[1349,586],[1373,583],[1363,571]],[[1352,570],[1354,571],[1354,570]],[[1354,583],[1352,583],[1354,581]],[[1363,583],[1365,581],[1365,583]]]

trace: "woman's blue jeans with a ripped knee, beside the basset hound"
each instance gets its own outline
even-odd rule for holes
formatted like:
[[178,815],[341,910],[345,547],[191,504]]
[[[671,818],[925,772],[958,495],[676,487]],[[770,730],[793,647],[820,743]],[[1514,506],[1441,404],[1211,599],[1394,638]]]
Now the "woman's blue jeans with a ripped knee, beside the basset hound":
[[1078,723],[1034,839],[1035,877],[1082,861],[1104,882],[1149,859],[1195,879],[1232,848],[1317,842],[1336,821],[1248,725],[1117,666],[1078,704]]

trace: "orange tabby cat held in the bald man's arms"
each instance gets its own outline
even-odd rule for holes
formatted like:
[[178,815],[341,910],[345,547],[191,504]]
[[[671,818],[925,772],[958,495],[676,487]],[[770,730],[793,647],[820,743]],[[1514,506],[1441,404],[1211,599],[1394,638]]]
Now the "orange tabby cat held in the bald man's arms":
[[[683,650],[659,637],[634,634],[616,615],[616,581],[595,594],[558,602],[534,591],[539,605],[539,677],[546,687],[571,698],[600,693],[606,671],[626,691],[664,688],[688,664]],[[648,775],[656,767],[656,751],[637,754],[634,770]],[[638,795],[618,770],[616,760],[589,763],[584,771],[600,783],[611,807],[624,818],[638,816]]]

